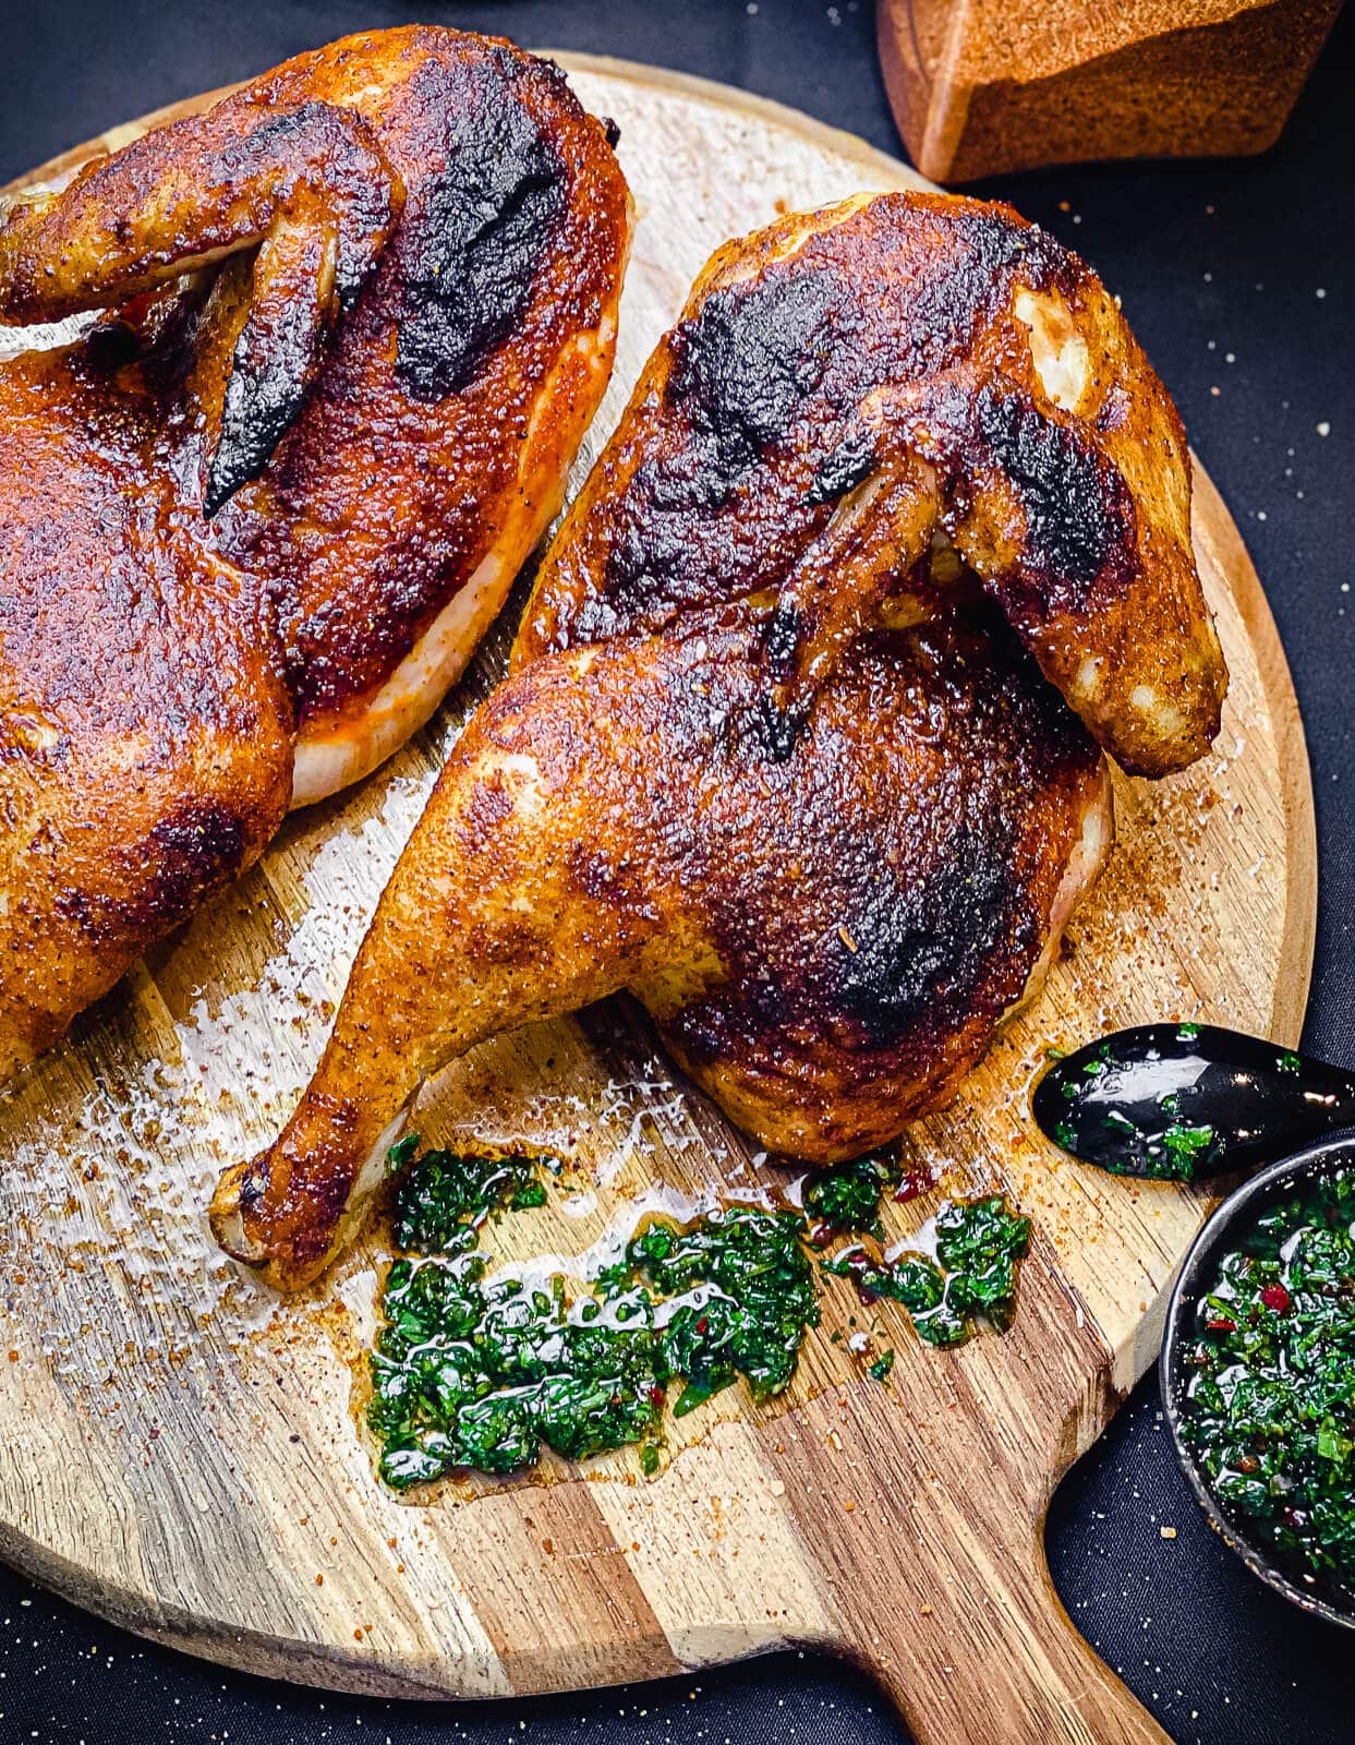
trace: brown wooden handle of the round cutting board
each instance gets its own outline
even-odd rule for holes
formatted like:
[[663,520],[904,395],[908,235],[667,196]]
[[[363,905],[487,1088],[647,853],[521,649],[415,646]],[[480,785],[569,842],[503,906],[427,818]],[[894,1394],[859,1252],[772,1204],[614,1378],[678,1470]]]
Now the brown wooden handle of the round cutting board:
[[882,1588],[888,1611],[851,1644],[916,1745],[1172,1745],[1064,1611],[1043,1530],[1013,1537],[1027,1543],[985,1548],[980,1597],[959,1591],[959,1574],[952,1605]]

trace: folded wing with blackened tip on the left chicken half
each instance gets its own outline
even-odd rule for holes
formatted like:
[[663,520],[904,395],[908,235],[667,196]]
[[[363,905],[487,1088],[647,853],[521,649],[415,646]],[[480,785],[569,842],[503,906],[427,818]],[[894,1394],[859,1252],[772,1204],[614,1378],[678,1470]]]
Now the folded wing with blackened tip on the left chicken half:
[[310,101],[241,127],[230,103],[94,159],[0,218],[0,321],[131,302],[253,251],[202,508],[256,478],[300,412],[326,326],[356,300],[405,204],[366,122]]

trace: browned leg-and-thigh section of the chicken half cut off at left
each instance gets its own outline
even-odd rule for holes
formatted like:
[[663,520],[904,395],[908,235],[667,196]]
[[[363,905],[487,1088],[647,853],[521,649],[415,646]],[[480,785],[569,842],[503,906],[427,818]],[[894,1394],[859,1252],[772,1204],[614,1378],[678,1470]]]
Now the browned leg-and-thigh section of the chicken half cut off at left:
[[0,375],[0,1082],[256,859],[293,714],[117,351]]

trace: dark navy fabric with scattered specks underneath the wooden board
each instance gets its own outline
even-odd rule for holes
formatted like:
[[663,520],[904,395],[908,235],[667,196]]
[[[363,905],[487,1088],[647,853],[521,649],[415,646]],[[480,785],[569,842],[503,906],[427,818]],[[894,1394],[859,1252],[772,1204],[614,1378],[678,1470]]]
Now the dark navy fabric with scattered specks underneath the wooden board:
[[[345,30],[408,16],[385,0],[0,0],[0,180],[112,122]],[[867,0],[427,0],[422,16],[743,84],[900,148]],[[1355,17],[1346,17],[1289,131],[1263,159],[1055,169],[1001,187],[1123,295],[1270,593],[1303,703],[1318,804],[1322,916],[1306,1042],[1336,1059],[1355,1057],[1346,691],[1355,579],[1346,546],[1355,496],[1355,211],[1346,169],[1353,45]],[[1161,1527],[1174,1527],[1175,1537],[1165,1539]],[[1212,1537],[1177,1473],[1151,1384],[1062,1487],[1048,1548],[1074,1619],[1174,1738],[1355,1738],[1350,1642],[1263,1590]],[[802,1656],[535,1703],[352,1701],[145,1647],[0,1569],[0,1740],[563,1745],[603,1733],[616,1745],[900,1738],[867,1682]],[[957,1726],[957,1745],[963,1738]]]

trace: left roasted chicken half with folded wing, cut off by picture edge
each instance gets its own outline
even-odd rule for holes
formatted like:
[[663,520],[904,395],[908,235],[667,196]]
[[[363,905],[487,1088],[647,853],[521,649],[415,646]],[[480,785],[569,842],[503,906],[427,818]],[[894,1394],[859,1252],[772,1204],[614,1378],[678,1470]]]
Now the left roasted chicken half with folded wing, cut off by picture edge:
[[[607,384],[630,199],[553,65],[298,56],[0,209],[0,1082],[432,712]],[[42,335],[38,335],[42,339]]]

